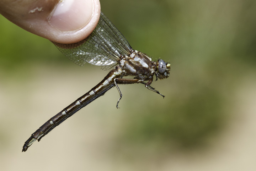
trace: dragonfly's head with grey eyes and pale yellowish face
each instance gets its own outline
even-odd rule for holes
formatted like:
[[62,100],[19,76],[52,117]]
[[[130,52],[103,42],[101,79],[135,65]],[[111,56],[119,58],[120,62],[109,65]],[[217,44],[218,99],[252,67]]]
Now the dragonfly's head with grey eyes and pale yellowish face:
[[156,62],[155,74],[159,79],[168,78],[170,75],[171,65],[164,60],[159,59]]

